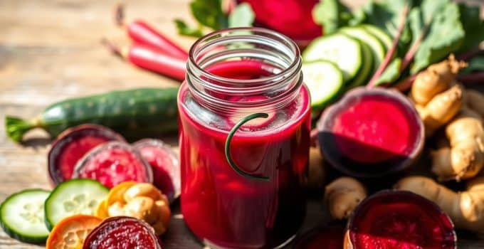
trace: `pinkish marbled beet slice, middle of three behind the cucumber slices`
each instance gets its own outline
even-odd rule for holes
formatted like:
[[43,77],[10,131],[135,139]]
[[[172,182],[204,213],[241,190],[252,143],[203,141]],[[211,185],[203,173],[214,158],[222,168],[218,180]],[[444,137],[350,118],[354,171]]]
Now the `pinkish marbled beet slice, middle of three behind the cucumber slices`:
[[107,142],[91,149],[75,165],[74,178],[98,180],[108,188],[123,181],[153,182],[151,166],[130,144]]

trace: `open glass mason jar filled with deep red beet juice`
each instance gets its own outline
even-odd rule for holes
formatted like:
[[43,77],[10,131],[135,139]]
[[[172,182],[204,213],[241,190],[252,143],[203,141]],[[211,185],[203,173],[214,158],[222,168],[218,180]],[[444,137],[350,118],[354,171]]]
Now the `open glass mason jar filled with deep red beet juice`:
[[305,216],[310,97],[298,46],[231,28],[191,47],[178,95],[181,212],[215,248],[275,248]]

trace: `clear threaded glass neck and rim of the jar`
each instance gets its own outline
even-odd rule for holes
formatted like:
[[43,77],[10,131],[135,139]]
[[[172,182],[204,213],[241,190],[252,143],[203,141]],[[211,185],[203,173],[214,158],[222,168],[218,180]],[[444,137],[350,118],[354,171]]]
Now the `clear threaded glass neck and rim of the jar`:
[[[237,79],[209,72],[211,65],[232,59],[260,60],[268,75]],[[280,108],[288,105],[302,85],[302,62],[296,43],[266,28],[226,28],[209,33],[191,46],[186,83],[192,95],[206,107],[219,112],[238,107]],[[268,100],[234,102],[221,95],[270,95]]]

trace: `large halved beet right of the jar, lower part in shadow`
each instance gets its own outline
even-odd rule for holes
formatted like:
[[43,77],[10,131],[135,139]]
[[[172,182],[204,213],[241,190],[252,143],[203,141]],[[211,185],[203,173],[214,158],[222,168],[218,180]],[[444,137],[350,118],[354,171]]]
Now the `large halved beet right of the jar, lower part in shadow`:
[[317,122],[323,157],[355,177],[407,169],[423,149],[424,129],[411,102],[396,90],[355,88]]

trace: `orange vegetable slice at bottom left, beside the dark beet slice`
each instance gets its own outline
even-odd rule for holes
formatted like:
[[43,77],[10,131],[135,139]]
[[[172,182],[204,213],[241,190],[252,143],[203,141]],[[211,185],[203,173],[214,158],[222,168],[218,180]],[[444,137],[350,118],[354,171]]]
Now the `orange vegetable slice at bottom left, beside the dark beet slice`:
[[85,238],[101,221],[101,218],[84,214],[64,218],[52,229],[46,242],[46,249],[83,248]]

